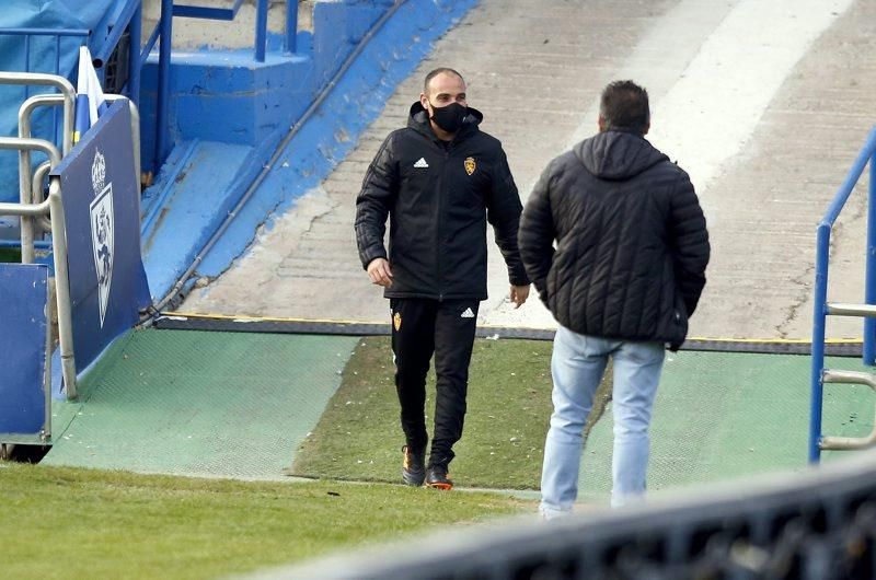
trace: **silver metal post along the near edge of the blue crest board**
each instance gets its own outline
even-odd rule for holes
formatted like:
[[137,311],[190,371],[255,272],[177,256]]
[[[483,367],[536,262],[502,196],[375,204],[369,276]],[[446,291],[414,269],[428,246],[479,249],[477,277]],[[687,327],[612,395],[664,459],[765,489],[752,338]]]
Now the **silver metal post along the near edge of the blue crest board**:
[[58,300],[58,338],[61,350],[61,373],[67,398],[76,398],[76,359],[73,358],[73,323],[70,309],[70,277],[67,271],[66,219],[61,202],[60,177],[53,176],[48,186],[51,216],[51,244],[55,258],[55,293]]

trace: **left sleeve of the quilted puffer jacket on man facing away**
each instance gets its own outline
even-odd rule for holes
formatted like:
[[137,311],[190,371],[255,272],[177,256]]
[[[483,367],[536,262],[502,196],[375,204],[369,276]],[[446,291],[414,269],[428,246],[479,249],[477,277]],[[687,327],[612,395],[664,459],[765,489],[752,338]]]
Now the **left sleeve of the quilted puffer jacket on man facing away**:
[[556,228],[551,211],[552,164],[542,172],[535,187],[529,195],[527,207],[520,220],[520,256],[527,274],[535,285],[539,298],[548,304],[548,272],[554,257]]

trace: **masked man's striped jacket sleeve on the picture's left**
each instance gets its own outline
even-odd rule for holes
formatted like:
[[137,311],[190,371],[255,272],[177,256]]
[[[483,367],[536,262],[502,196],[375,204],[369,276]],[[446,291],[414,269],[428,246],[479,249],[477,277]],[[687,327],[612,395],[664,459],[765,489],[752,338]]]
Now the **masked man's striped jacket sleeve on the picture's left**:
[[395,204],[399,188],[397,171],[392,155],[391,134],[380,146],[362,179],[362,189],[356,198],[356,244],[362,268],[374,258],[387,258],[383,235],[387,218]]

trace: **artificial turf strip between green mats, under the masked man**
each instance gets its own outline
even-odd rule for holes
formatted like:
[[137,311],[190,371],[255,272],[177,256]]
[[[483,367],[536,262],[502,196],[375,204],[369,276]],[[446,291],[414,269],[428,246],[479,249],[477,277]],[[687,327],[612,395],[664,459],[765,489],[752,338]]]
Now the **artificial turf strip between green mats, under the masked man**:
[[[539,487],[552,410],[551,346],[539,340],[475,341],[465,429],[450,466],[457,485]],[[600,393],[604,404],[604,384]],[[429,372],[427,416],[434,406],[435,373]],[[372,337],[356,348],[292,471],[306,477],[395,483],[403,444],[390,340]]]

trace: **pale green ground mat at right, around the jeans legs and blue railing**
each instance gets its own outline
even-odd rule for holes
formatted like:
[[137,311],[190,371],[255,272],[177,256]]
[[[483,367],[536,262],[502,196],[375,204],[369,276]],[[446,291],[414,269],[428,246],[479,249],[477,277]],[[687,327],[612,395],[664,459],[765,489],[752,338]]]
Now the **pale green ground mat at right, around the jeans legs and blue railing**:
[[[828,358],[828,368],[864,370],[860,359]],[[795,355],[667,352],[652,421],[648,487],[670,489],[800,469],[807,463],[811,359]],[[864,385],[825,385],[822,432],[864,437],[874,394]],[[612,406],[590,433],[580,497],[611,490]],[[849,452],[825,452],[822,459]]]

